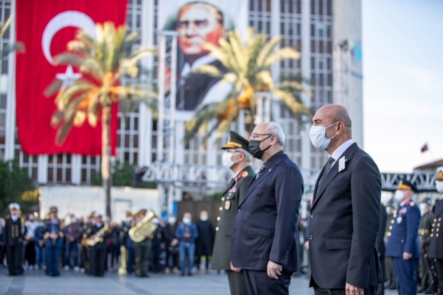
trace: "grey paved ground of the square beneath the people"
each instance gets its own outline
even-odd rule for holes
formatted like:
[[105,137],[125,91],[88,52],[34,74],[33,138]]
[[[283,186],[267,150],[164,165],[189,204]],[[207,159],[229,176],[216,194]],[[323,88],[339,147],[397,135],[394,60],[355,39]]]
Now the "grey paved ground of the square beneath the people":
[[[224,273],[197,274],[195,276],[177,276],[151,274],[150,278],[118,276],[108,271],[103,278],[80,274],[75,271],[62,271],[60,277],[48,277],[41,270],[26,271],[24,276],[8,276],[8,271],[0,267],[0,294],[156,294],[156,295],[228,295],[228,280]],[[309,289],[309,280],[305,277],[293,277],[289,294],[314,294]],[[387,295],[396,294],[388,291]]]

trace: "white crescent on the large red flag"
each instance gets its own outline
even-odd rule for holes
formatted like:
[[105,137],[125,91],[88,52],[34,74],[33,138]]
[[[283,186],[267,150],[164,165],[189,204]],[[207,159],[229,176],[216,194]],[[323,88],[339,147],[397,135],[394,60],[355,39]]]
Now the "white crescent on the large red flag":
[[48,22],[46,28],[44,28],[42,36],[42,50],[44,57],[46,57],[46,60],[52,65],[54,65],[55,62],[51,55],[51,41],[55,33],[68,26],[80,28],[89,33],[93,39],[96,39],[96,24],[91,17],[85,15],[83,12],[74,10],[59,13]]

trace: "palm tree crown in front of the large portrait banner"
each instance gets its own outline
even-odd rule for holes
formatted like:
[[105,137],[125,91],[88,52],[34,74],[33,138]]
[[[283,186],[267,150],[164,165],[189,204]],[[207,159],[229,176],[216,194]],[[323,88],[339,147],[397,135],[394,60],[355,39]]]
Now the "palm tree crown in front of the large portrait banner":
[[[263,33],[254,35],[253,28],[249,28],[246,39],[242,42],[237,30],[228,33],[228,41],[219,39],[219,46],[206,44],[210,54],[215,56],[226,70],[217,69],[213,65],[205,65],[196,70],[220,78],[224,82],[233,84],[233,89],[221,102],[204,105],[197,114],[186,124],[185,141],[192,139],[197,132],[206,133],[204,144],[210,134],[217,131],[217,138],[230,129],[241,110],[244,110],[244,122],[247,133],[252,132],[257,116],[257,92],[269,92],[271,98],[291,111],[294,117],[301,114],[311,115],[309,109],[303,105],[300,93],[302,88],[300,76],[282,77],[282,81],[275,84],[271,77],[271,66],[275,62],[285,59],[298,59],[300,55],[293,48],[275,48],[282,37],[277,36],[266,41]],[[309,95],[309,91],[305,91]],[[210,122],[216,118],[215,124]]]

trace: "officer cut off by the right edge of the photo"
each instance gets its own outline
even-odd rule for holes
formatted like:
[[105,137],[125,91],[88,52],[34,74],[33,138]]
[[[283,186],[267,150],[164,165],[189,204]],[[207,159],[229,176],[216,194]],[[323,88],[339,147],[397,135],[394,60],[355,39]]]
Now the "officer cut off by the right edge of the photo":
[[[437,192],[443,196],[443,167],[437,168],[435,180]],[[435,204],[433,228],[431,230],[431,242],[429,244],[428,257],[434,259],[437,269],[438,288],[443,294],[443,198]]]

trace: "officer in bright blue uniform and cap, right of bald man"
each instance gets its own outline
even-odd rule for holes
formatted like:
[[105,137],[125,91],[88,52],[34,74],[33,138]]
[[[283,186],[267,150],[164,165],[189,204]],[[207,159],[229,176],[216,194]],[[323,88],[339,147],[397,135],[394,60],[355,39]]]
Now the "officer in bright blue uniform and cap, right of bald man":
[[395,283],[401,295],[417,294],[414,270],[419,258],[417,234],[420,210],[412,200],[413,192],[417,193],[415,185],[401,179],[395,191],[395,199],[400,206],[397,217],[391,222],[386,246],[386,256],[392,258]]

